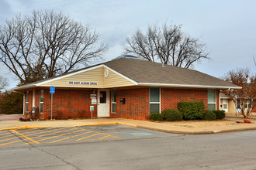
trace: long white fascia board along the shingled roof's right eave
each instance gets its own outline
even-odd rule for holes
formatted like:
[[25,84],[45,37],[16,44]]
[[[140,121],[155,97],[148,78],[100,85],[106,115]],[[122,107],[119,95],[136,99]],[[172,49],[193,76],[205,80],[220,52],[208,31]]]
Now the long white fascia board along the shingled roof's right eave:
[[138,83],[138,86],[151,87],[190,87],[190,88],[206,88],[206,89],[241,89],[242,87],[222,87],[222,86],[205,86],[191,84],[172,84],[172,83]]

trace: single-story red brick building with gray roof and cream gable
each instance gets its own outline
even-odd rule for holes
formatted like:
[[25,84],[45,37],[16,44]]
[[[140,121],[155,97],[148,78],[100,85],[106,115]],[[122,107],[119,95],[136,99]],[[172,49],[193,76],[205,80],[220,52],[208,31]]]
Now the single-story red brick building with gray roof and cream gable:
[[62,119],[123,117],[146,120],[150,113],[177,109],[179,101],[202,101],[209,110],[220,109],[220,90],[237,89],[233,83],[196,70],[153,63],[134,56],[76,70],[14,90],[24,93],[24,114],[37,107],[41,119],[51,112]]

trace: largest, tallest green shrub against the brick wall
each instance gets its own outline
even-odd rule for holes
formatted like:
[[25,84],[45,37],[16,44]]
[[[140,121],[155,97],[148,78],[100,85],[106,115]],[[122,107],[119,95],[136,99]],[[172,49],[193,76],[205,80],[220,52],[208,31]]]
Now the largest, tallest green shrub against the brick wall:
[[202,101],[181,101],[178,102],[178,110],[185,120],[201,119],[205,105]]

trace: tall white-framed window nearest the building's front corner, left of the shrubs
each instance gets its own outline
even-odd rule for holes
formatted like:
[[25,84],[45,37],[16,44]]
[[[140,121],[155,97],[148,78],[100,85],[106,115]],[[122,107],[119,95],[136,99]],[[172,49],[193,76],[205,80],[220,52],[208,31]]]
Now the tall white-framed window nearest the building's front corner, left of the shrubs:
[[160,88],[150,88],[150,114],[160,113]]

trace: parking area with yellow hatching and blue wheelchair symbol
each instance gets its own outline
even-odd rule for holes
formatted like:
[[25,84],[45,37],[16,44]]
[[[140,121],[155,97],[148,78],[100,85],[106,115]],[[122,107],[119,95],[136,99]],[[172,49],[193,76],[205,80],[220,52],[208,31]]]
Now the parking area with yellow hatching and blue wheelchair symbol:
[[0,131],[0,147],[13,145],[40,145],[58,144],[60,142],[77,141],[111,141],[135,138],[155,138],[167,134],[159,131],[150,131],[143,128],[134,128],[121,124],[98,126],[80,126],[69,128],[34,128],[13,129]]

